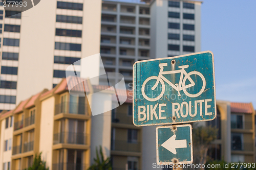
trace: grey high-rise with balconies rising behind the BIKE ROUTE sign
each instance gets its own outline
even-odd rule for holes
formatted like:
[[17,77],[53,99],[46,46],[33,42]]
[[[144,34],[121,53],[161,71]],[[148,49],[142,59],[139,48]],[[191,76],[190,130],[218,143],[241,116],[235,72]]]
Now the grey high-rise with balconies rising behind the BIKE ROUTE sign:
[[105,70],[120,72],[131,88],[134,62],[200,52],[201,3],[102,1],[100,53]]

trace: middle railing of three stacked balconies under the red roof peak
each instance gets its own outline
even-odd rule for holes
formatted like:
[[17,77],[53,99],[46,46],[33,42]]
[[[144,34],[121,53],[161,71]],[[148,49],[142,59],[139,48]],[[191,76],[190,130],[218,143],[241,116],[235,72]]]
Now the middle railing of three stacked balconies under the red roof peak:
[[53,144],[88,144],[88,135],[84,133],[61,132],[53,135]]

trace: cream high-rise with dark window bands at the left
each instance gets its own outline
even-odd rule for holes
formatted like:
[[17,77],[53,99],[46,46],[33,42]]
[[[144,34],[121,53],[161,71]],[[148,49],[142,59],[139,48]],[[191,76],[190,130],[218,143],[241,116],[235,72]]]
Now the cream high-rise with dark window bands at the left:
[[[11,17],[7,12],[15,14],[0,6],[0,110],[51,89],[68,65],[99,53],[100,0],[40,1]],[[74,66],[79,75],[80,65]]]

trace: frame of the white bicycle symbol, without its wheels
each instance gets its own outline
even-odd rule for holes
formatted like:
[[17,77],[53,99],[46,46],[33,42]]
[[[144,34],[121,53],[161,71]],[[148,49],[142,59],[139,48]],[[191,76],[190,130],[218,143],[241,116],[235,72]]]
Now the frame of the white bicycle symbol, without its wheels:
[[[158,80],[157,80],[156,84],[152,87],[152,90],[154,90],[157,87],[160,79],[162,79],[163,81],[168,83],[170,86],[172,86],[175,90],[177,90],[178,95],[181,95],[180,91],[183,90],[184,88],[189,88],[189,87],[195,86],[195,82],[188,76],[187,72],[185,71],[185,68],[187,68],[188,65],[179,66],[179,68],[181,68],[181,69],[172,70],[172,71],[163,71],[164,66],[167,66],[167,63],[159,64],[160,71],[159,71],[159,75],[158,75]],[[170,75],[170,74],[176,74],[176,73],[181,73],[181,75],[180,75],[179,83],[175,84],[175,85],[163,76],[163,75]],[[187,77],[187,80],[189,80],[190,84],[182,86],[183,75],[185,75],[185,77]]]

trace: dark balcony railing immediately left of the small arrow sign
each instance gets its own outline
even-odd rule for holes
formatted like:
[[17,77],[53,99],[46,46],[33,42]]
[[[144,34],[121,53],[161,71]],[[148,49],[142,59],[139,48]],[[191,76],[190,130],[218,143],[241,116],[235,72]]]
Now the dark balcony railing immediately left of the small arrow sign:
[[140,152],[140,142],[129,143],[126,140],[111,140],[112,151]]

